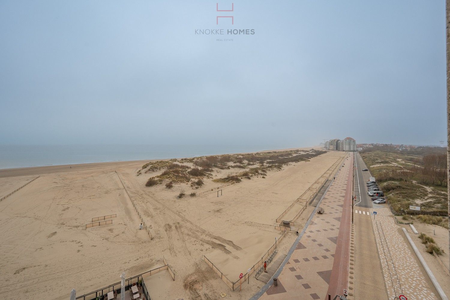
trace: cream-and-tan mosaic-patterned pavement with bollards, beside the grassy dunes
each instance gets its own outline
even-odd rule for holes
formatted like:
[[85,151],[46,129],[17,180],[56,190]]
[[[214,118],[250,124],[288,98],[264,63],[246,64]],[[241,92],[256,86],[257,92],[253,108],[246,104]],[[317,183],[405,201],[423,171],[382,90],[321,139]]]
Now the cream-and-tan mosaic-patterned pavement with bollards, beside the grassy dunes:
[[374,210],[377,215],[375,220],[372,217],[372,223],[389,299],[394,299],[400,292],[408,299],[438,299],[428,286],[422,267],[406,244],[389,208],[371,209],[370,212]]

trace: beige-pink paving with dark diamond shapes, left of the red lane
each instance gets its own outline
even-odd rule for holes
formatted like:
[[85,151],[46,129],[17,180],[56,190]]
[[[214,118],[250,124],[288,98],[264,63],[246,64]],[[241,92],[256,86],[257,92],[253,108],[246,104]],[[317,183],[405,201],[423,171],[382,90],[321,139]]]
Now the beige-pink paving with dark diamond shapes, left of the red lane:
[[[351,161],[345,160],[344,163],[347,164],[338,172],[320,203],[320,207],[324,208],[324,214],[314,215],[280,273],[278,286],[271,286],[260,299],[325,299],[332,277],[342,208],[352,167]],[[349,211],[351,213],[351,208]],[[350,235],[350,224],[348,227],[348,235]],[[347,228],[345,231],[347,232]],[[348,248],[344,247],[344,251],[346,249]],[[345,280],[347,284],[348,262]]]

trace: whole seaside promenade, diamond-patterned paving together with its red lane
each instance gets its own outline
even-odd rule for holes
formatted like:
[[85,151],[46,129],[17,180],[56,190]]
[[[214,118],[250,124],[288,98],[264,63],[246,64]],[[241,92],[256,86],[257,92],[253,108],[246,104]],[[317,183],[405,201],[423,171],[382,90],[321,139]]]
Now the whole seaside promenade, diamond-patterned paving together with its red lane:
[[[352,157],[344,160],[317,212],[278,276],[260,299],[325,299],[348,285]],[[347,207],[348,206],[348,207]]]

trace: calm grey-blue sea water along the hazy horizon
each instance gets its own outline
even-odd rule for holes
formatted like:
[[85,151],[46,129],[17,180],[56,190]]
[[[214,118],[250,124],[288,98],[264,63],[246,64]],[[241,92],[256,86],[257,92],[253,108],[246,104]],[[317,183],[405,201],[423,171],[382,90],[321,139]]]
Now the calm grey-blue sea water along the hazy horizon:
[[0,169],[90,162],[196,157],[294,148],[283,145],[0,145]]

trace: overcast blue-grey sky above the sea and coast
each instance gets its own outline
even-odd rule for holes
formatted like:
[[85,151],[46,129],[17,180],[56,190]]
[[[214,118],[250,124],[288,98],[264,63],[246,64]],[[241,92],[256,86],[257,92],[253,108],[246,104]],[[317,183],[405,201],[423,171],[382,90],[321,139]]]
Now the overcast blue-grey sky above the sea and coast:
[[446,138],[445,1],[231,1],[0,1],[0,143]]

